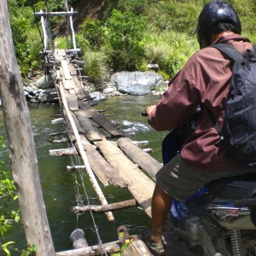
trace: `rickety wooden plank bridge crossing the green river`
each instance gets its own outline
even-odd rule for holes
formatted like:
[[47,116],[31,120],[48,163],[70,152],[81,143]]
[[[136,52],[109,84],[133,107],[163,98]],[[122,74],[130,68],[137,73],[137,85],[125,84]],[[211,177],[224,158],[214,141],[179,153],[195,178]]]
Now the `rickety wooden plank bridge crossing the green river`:
[[[79,73],[74,72],[79,70],[79,64],[72,61],[75,53],[69,55],[64,49],[55,49],[49,55],[55,60],[55,65],[51,67],[51,73],[59,91],[62,113],[61,119],[53,120],[53,123],[64,122],[68,140],[73,144],[73,148],[50,150],[49,154],[57,156],[79,154],[84,165],[67,166],[67,170],[70,172],[85,170],[102,203],[102,206],[72,207],[71,211],[105,212],[108,221],[113,221],[114,217],[111,211],[140,206],[151,218],[151,197],[154,192],[155,174],[162,164],[140,148],[139,142],[133,142],[130,138],[125,137],[119,127],[106,119],[100,113],[101,111],[97,111],[90,106],[89,102],[84,101],[88,95],[84,92],[81,80],[78,79]],[[109,136],[104,136],[95,124],[108,131]],[[51,143],[54,142],[55,140],[51,140]],[[67,140],[63,142],[67,142]],[[96,177],[104,187],[112,184],[128,189],[134,200],[108,204]],[[123,226],[122,230],[125,229]],[[128,232],[128,230],[125,231]],[[119,241],[89,247],[82,230],[75,230],[74,234],[75,236],[71,236],[73,249],[58,252],[55,255],[102,255],[102,250],[105,250],[105,253],[117,253],[122,245],[119,237]],[[168,245],[166,255],[182,255],[183,252],[186,252],[184,243],[179,244],[178,248],[175,247],[175,242],[173,243],[170,238],[171,236],[173,238],[173,235],[175,235],[173,231],[164,233],[164,239]],[[134,241],[122,255],[152,255],[140,240],[140,236],[127,237]]]

